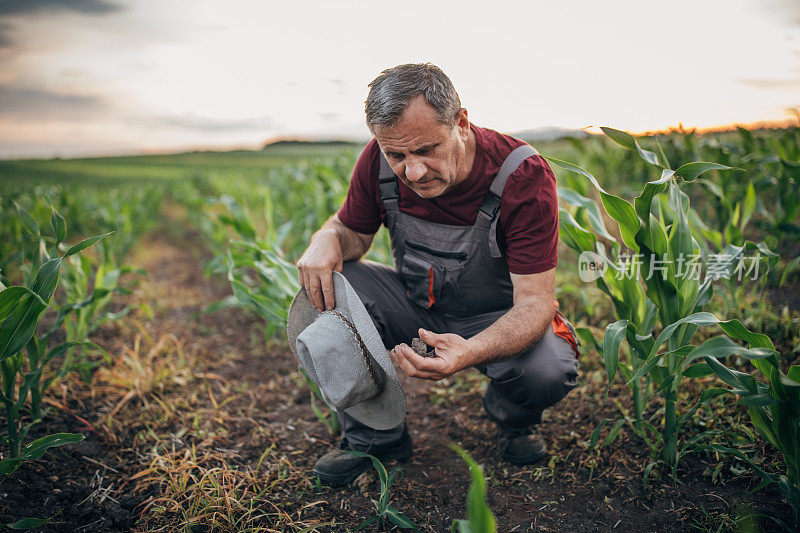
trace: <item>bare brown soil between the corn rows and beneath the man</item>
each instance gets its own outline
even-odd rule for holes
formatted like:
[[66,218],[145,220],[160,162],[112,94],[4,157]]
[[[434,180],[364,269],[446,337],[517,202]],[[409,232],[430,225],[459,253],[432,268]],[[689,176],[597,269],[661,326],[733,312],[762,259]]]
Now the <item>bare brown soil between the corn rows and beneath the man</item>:
[[[261,320],[240,309],[205,311],[230,288],[224,277],[203,275],[205,252],[198,243],[192,234],[160,232],[135,252],[130,262],[149,276],[127,303],[142,306],[105,326],[97,340],[127,363],[98,372],[92,384],[70,379],[51,391],[49,414],[32,437],[72,431],[86,439],[52,449],[3,480],[0,523],[55,515],[42,531],[283,531],[314,525],[343,531],[373,515],[370,499],[379,491],[374,474],[339,489],[310,477],[316,458],[336,439],[314,415],[308,389],[298,388],[297,363],[285,343],[266,344]],[[483,466],[489,504],[503,532],[729,530],[747,520],[775,528],[759,514],[788,522],[790,510],[777,488],[753,492],[759,479],[729,459],[691,456],[678,481],[656,467],[645,488],[649,452],[630,431],[599,452],[591,450],[597,425],[617,417],[618,404],[630,406],[619,385],[605,397],[596,358],[584,356],[581,386],[546,413],[542,432],[550,458],[527,467],[499,457],[477,371],[438,383],[403,376],[415,452],[405,464],[387,465],[404,470],[391,505],[422,531],[448,531],[454,519],[465,518],[468,469],[446,446],[456,442]],[[127,390],[135,392],[126,399]],[[742,411],[718,414],[746,421]],[[704,423],[714,424],[713,415]],[[220,488],[199,483],[203,479]],[[232,522],[230,516],[245,514],[235,505],[227,519],[203,514],[202,506],[220,492],[227,494],[222,501],[246,500],[247,487],[268,488],[248,500],[261,518]]]

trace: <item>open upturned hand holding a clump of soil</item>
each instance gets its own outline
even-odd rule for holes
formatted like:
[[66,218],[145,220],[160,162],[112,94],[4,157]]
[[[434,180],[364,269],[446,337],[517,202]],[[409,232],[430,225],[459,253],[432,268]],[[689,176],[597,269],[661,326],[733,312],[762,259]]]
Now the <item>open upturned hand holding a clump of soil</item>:
[[472,366],[474,348],[464,337],[420,329],[419,338],[436,350],[436,357],[422,357],[405,343],[389,352],[397,366],[409,376],[437,381]]

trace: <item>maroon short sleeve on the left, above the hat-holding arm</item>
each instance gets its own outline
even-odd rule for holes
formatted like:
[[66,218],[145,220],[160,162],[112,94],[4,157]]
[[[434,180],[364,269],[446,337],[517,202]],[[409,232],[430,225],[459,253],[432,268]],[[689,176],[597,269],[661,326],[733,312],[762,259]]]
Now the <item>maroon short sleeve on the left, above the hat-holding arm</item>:
[[342,224],[367,235],[374,234],[381,227],[377,170],[379,152],[374,139],[364,147],[353,168],[347,196],[338,212]]

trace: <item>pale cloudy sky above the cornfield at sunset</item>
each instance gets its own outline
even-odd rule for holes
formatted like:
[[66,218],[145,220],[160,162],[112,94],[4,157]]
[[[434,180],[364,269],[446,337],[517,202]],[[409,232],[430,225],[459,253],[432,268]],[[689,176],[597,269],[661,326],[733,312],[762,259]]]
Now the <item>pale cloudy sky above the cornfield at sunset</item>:
[[780,120],[800,1],[0,0],[0,157],[367,138],[367,83],[421,61],[504,132]]

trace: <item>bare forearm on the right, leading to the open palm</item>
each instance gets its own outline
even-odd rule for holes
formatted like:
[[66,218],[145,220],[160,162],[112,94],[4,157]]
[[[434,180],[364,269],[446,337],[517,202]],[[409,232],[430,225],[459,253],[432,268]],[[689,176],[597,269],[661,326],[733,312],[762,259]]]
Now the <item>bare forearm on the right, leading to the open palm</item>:
[[494,324],[469,339],[467,366],[517,355],[539,341],[553,322],[555,308],[547,303],[514,305]]

